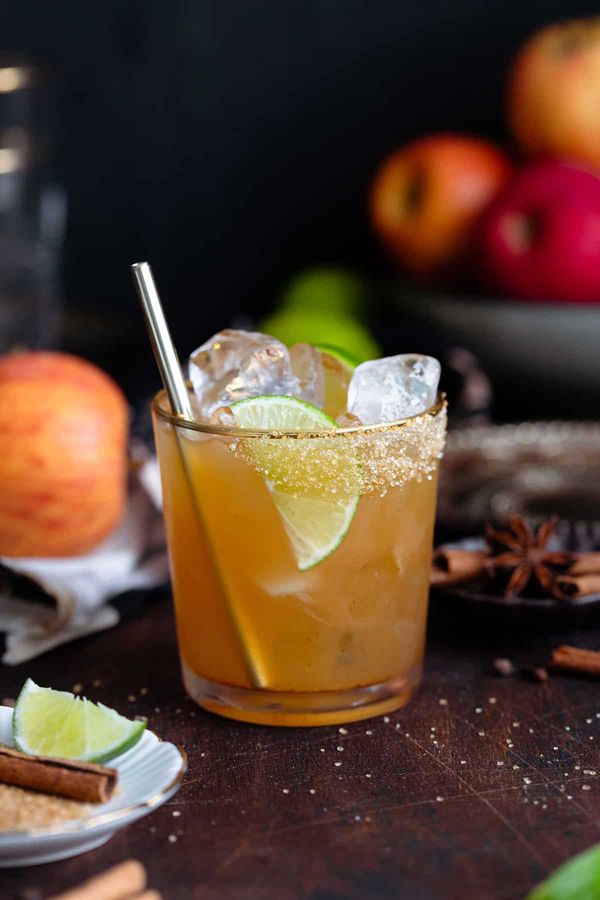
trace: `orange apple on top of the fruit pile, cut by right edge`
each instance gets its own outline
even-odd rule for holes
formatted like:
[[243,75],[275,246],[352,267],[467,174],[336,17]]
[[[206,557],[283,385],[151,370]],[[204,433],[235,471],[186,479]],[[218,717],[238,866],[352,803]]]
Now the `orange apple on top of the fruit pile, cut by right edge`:
[[511,68],[506,103],[525,153],[600,168],[600,18],[533,34]]

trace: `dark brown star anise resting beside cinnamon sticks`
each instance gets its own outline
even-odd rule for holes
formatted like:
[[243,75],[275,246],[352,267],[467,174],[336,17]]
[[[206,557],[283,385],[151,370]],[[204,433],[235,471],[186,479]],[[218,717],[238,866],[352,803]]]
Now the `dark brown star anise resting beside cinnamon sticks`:
[[513,570],[506,584],[505,597],[522,593],[532,576],[542,590],[551,590],[555,575],[551,566],[562,569],[572,562],[573,554],[547,549],[558,520],[558,516],[552,516],[542,523],[537,534],[533,534],[527,522],[516,515],[509,517],[508,531],[495,531],[488,526],[486,536],[491,553],[499,551],[486,562],[488,574],[494,576],[498,570]]

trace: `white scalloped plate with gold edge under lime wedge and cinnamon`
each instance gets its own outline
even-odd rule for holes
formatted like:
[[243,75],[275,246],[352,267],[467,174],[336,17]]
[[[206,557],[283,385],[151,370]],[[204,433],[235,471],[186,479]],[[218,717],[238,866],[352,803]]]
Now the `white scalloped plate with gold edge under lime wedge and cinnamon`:
[[[13,746],[13,710],[0,707],[0,743]],[[107,842],[124,825],[148,815],[181,785],[187,756],[174,743],[144,732],[139,743],[111,763],[119,771],[120,792],[94,805],[82,819],[40,825],[18,832],[0,831],[0,869],[66,860]]]

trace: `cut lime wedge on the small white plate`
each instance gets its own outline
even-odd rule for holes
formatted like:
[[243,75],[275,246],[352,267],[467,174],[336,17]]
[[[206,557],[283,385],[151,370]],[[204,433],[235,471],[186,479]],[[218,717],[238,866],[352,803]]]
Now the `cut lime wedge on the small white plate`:
[[145,722],[65,690],[40,688],[27,679],[13,713],[13,741],[24,753],[107,762],[138,743]]

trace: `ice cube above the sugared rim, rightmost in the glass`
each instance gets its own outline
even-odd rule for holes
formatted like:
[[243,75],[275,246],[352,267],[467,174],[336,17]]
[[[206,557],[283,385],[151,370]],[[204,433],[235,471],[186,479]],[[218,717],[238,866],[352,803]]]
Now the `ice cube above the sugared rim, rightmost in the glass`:
[[365,425],[406,419],[435,402],[440,364],[433,356],[404,353],[358,365],[348,387],[348,411]]

